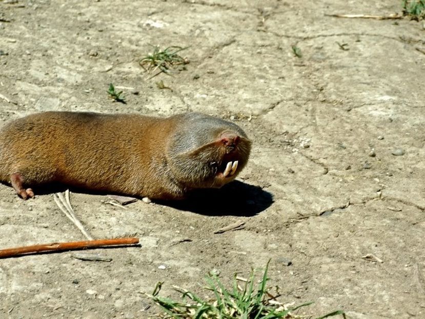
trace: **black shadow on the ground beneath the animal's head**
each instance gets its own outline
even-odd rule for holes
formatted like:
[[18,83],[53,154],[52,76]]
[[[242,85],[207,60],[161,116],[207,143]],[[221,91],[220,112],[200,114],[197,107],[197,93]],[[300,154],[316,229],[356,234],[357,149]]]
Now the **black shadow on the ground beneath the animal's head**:
[[258,186],[239,181],[219,189],[199,189],[183,201],[155,201],[179,210],[209,216],[254,216],[273,203],[273,195]]

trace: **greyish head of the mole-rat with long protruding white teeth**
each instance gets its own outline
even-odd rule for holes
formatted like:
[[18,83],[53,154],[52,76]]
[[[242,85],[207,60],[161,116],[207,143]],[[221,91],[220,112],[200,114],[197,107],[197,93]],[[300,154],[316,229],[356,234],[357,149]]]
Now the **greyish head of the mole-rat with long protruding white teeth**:
[[236,124],[191,113],[181,117],[168,148],[168,161],[177,182],[188,188],[218,188],[245,167],[251,141]]

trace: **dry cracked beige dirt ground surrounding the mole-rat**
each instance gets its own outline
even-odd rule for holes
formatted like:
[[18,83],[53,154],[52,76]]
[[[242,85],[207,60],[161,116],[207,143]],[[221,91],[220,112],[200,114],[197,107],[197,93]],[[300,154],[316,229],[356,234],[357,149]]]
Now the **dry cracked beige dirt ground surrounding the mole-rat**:
[[[0,1],[1,126],[47,110],[200,111],[254,142],[238,182],[197,203],[123,209],[73,192],[93,237],[141,247],[86,252],[111,262],[0,260],[0,317],[154,317],[141,292],[158,281],[165,296],[201,292],[213,269],[228,282],[271,258],[280,301],[315,301],[306,313],[425,318],[425,26],[326,15],[400,11],[399,0]],[[138,61],[152,45],[190,46],[190,64],[148,79]],[[127,104],[108,99],[111,82]],[[214,234],[234,222],[245,228]],[[7,185],[0,234],[1,248],[84,240],[52,194],[22,201]]]

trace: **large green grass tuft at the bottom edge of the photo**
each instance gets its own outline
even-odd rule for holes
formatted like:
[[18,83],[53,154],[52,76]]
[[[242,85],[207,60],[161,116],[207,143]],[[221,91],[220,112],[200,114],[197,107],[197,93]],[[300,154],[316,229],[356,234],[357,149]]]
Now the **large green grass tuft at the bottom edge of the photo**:
[[[243,279],[236,274],[233,278],[233,287],[227,289],[219,280],[216,274],[210,273],[206,276],[207,287],[205,289],[212,292],[212,299],[205,299],[197,296],[191,291],[176,286],[173,288],[182,293],[181,301],[174,301],[170,298],[159,296],[162,282],[159,282],[152,294],[147,294],[165,313],[161,318],[165,319],[280,319],[280,318],[300,318],[293,312],[301,307],[308,306],[305,303],[296,307],[288,307],[276,300],[279,295],[273,295],[266,284],[269,278],[267,271],[269,263],[262,274],[260,282],[255,285],[255,273],[251,271],[249,278]],[[243,282],[243,284],[242,284]],[[276,291],[278,293],[278,288]],[[333,311],[326,315],[316,317],[324,319],[330,316],[342,315],[341,310]],[[302,316],[306,318],[306,316]],[[312,318],[313,316],[310,316]]]

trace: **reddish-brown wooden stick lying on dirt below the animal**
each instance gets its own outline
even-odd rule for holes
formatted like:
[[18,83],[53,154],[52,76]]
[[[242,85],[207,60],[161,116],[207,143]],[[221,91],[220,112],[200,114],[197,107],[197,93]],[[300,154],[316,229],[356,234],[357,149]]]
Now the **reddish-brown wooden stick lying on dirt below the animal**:
[[84,242],[67,242],[33,245],[25,247],[16,247],[0,250],[0,258],[18,256],[28,253],[38,253],[46,251],[62,251],[71,249],[87,249],[92,247],[115,246],[115,245],[132,245],[138,244],[138,238],[114,238],[104,240],[93,240]]

